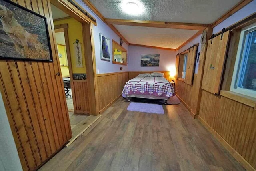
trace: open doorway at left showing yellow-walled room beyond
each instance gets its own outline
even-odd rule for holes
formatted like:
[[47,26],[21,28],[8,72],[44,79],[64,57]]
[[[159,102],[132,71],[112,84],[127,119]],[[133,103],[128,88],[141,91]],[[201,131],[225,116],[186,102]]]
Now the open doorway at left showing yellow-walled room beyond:
[[101,115],[90,114],[82,23],[51,4],[61,75],[72,130],[70,145]]

